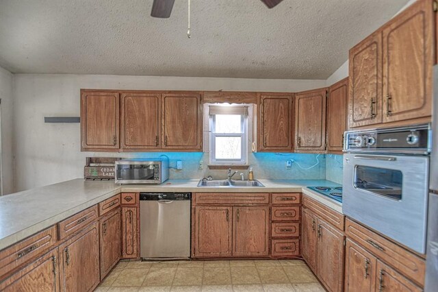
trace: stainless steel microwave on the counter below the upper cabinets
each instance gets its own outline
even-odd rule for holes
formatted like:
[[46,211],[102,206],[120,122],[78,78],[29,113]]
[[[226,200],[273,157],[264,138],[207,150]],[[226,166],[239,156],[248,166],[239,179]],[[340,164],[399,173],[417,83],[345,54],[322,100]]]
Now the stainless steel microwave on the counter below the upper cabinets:
[[116,161],[116,184],[162,184],[168,178],[167,159]]

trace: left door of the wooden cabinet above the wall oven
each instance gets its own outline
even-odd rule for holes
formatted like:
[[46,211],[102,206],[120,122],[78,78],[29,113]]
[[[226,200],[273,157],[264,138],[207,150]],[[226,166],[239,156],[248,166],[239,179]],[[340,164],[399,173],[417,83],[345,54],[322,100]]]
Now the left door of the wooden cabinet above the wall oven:
[[349,127],[382,122],[382,34],[376,32],[350,49]]

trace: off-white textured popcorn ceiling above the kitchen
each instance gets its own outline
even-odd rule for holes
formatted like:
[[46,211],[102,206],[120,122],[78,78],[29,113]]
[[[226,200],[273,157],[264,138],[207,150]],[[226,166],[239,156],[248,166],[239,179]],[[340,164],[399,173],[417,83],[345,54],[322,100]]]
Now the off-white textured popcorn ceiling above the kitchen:
[[0,0],[0,66],[13,73],[326,79],[408,0]]

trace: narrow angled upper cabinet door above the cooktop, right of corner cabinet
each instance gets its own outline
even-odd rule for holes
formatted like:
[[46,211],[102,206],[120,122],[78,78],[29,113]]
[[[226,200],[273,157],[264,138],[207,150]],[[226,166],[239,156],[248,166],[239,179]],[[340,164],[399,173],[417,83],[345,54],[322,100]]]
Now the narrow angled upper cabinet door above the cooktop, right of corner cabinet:
[[327,99],[327,150],[342,152],[347,129],[348,78],[329,87]]

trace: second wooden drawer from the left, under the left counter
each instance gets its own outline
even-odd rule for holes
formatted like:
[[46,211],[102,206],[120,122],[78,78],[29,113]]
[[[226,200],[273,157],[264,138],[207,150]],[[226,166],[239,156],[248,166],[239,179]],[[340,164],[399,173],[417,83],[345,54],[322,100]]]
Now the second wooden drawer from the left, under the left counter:
[[80,231],[97,218],[97,205],[73,215],[60,223],[57,223],[58,238],[65,239],[67,236]]

